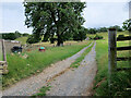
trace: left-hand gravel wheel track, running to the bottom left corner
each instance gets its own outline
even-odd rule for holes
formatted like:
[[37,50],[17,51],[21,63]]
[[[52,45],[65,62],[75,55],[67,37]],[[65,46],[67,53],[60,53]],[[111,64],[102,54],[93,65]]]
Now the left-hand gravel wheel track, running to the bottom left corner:
[[[79,58],[84,52],[85,49],[87,49],[88,47],[91,47],[92,44],[90,46],[83,48],[76,54],[74,54],[74,56],[72,56],[72,57],[70,57],[70,58],[68,58],[66,60],[59,61],[59,62],[57,62],[55,64],[51,64],[50,66],[48,66],[47,69],[45,69],[38,75],[33,75],[33,76],[31,76],[28,78],[24,78],[24,79],[20,81],[19,83],[12,85],[10,88],[3,90],[2,95],[3,96],[31,96],[31,95],[37,93],[39,90],[39,88],[41,88],[43,86],[45,86],[50,78],[52,78],[55,75],[61,73],[66,69],[70,68],[71,63],[74,62],[75,59]],[[93,58],[95,58],[95,57],[93,57]],[[72,77],[72,76],[73,75],[71,74],[70,77]],[[78,82],[80,82],[80,81],[78,81]],[[71,82],[71,84],[72,84],[72,82]]]

